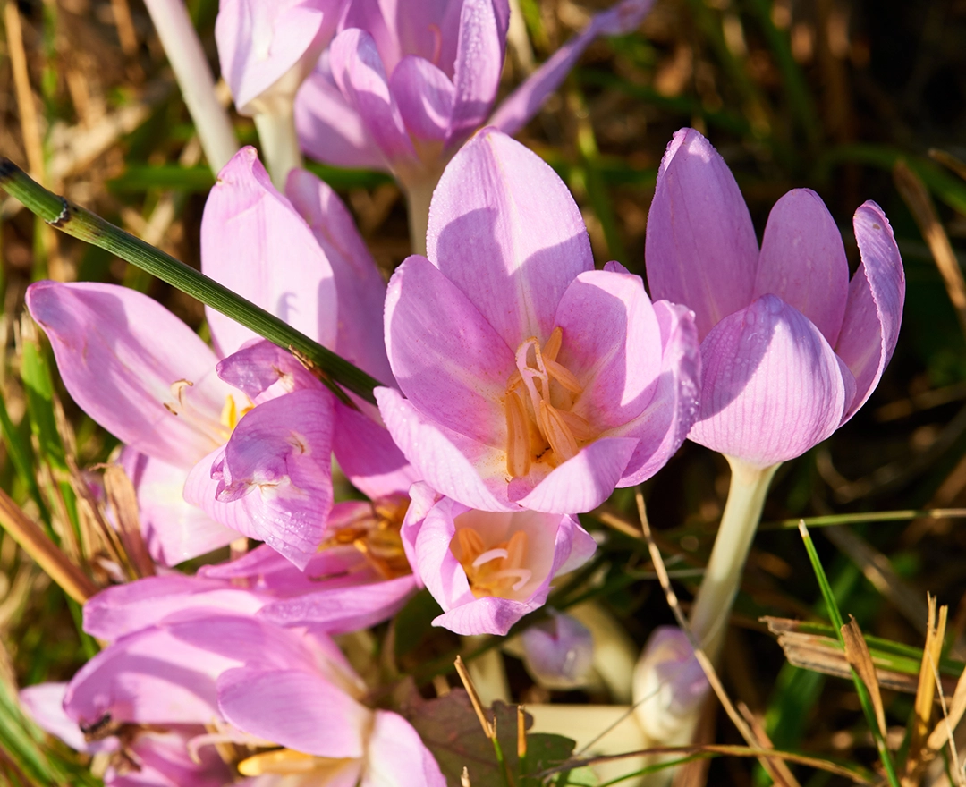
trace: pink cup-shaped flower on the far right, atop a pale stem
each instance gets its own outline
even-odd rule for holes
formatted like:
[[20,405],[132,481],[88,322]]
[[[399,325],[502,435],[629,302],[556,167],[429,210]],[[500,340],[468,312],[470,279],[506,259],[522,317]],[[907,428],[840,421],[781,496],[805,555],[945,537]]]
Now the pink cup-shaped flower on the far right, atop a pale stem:
[[648,214],[654,297],[695,311],[700,414],[690,437],[755,467],[805,453],[865,404],[895,350],[905,276],[874,202],[853,219],[862,265],[849,282],[838,227],[795,189],[759,250],[725,161],[693,128],[668,145]]

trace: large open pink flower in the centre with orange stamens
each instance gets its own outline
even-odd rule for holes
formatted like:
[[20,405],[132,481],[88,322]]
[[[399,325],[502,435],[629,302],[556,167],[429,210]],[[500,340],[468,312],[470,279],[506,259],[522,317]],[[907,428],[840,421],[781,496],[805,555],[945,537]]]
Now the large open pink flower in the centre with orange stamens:
[[594,270],[547,164],[481,131],[440,180],[427,245],[390,281],[400,390],[376,390],[424,481],[469,508],[572,514],[668,461],[696,414],[692,316]]

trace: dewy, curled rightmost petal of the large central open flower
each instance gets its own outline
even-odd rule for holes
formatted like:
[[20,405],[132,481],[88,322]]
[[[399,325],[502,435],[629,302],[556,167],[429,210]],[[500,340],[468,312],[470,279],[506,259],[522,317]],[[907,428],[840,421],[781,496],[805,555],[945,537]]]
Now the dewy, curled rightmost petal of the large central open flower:
[[624,469],[618,487],[630,487],[650,478],[681,447],[694,425],[701,390],[701,352],[695,315],[667,300],[654,304],[661,326],[661,376],[654,397],[639,417],[611,432],[636,436],[638,447]]

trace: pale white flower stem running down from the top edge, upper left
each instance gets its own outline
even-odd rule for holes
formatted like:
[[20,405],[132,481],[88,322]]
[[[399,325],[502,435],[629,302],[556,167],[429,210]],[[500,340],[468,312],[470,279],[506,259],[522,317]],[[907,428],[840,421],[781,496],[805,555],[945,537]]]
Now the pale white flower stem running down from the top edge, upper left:
[[214,79],[191,17],[182,0],[145,0],[157,36],[175,72],[187,111],[215,175],[238,152],[239,144],[225,108],[214,95]]

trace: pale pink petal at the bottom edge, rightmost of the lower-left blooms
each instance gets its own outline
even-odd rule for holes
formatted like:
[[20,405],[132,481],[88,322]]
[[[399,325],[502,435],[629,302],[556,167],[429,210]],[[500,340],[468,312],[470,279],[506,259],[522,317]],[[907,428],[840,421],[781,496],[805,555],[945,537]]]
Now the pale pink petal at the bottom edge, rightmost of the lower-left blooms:
[[376,711],[359,787],[446,787],[446,779],[409,721]]

